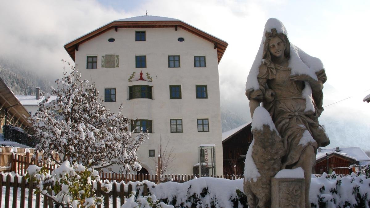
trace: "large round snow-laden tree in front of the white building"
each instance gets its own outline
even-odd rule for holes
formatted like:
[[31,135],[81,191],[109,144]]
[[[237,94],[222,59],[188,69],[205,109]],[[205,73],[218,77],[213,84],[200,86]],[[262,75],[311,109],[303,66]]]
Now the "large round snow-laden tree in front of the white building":
[[140,170],[136,151],[148,133],[140,131],[132,137],[128,127],[135,120],[122,115],[122,105],[118,114],[105,108],[98,101],[101,98],[95,84],[82,80],[73,66],[55,82],[58,87],[52,88],[52,94],[57,98],[40,102],[36,115],[30,118],[34,136],[41,140],[36,149],[57,162],[54,151],[61,161],[77,161],[88,167],[118,164],[120,172]]

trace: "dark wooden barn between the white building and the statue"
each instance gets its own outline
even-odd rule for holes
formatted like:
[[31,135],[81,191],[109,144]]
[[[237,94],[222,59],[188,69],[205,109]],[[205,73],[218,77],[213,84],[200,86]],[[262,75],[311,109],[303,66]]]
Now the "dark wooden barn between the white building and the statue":
[[252,143],[252,123],[222,133],[223,174],[243,175],[245,155]]

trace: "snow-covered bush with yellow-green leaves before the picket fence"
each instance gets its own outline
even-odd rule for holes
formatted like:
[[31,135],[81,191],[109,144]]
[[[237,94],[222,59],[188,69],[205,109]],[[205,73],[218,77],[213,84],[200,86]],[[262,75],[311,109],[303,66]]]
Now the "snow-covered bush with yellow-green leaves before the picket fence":
[[[70,165],[69,161],[64,161],[51,174],[44,167],[30,165],[26,178],[36,182],[36,193],[53,199],[62,207],[87,208],[102,203],[102,197],[94,196],[94,189],[91,188],[92,181],[100,180],[98,171],[81,164]],[[109,192],[111,188],[110,184],[102,184],[101,190]]]

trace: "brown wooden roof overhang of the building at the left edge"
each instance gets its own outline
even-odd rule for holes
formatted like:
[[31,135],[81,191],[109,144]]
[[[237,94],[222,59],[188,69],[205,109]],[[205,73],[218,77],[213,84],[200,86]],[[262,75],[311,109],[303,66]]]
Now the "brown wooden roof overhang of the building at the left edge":
[[30,117],[30,114],[24,108],[24,106],[19,102],[17,97],[13,94],[13,92],[9,89],[9,87],[4,83],[4,81],[0,78],[0,107],[1,107],[1,114],[3,114],[4,109],[8,110],[8,114],[11,117],[14,116],[13,121],[19,121],[25,127],[31,127],[31,124],[28,123],[26,117]]

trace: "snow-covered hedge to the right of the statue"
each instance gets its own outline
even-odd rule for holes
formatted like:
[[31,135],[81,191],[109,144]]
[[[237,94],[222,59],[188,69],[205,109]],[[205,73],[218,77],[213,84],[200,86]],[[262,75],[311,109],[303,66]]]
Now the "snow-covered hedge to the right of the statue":
[[370,207],[370,178],[354,172],[342,178],[334,171],[324,173],[311,179],[310,202],[316,208]]

